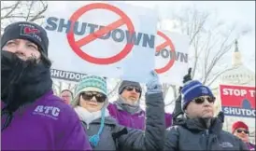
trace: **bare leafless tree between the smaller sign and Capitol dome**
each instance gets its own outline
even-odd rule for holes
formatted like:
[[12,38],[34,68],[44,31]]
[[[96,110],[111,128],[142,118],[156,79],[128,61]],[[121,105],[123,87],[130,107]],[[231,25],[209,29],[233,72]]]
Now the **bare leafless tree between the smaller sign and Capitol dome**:
[[[242,24],[220,21],[216,15],[196,7],[184,7],[178,12],[170,13],[172,27],[165,27],[171,32],[189,36],[192,78],[200,80],[212,89],[216,89],[214,82],[221,74],[233,70],[229,67],[230,63],[225,61],[229,58],[226,54],[235,46],[235,39],[250,31]],[[174,103],[178,97],[177,86],[165,84],[164,91],[170,88],[174,98],[165,105]]]

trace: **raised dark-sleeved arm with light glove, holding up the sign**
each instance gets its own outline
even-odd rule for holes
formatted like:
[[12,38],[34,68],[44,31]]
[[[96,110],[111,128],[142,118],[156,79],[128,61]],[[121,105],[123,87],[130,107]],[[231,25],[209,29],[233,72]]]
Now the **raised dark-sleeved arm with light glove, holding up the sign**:
[[147,84],[146,93],[146,129],[128,129],[128,133],[119,139],[119,150],[155,150],[164,149],[164,98],[162,88],[155,73]]

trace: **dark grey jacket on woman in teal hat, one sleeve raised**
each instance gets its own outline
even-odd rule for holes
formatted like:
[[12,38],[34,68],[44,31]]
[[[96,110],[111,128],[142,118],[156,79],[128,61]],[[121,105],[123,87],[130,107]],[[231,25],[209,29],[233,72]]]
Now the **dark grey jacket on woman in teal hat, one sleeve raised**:
[[[100,141],[92,147],[93,150],[155,150],[164,149],[164,99],[163,93],[146,95],[146,129],[135,130],[117,123],[113,117],[105,118],[105,127],[100,135]],[[100,129],[101,119],[93,120],[89,126],[83,122],[89,136]]]

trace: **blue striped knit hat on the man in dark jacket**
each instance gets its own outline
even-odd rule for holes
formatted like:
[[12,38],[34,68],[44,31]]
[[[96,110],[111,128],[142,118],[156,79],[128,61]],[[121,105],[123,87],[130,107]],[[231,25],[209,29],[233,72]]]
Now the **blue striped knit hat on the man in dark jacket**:
[[192,80],[187,85],[185,85],[181,89],[181,95],[182,95],[182,103],[181,103],[182,110],[185,110],[187,105],[190,102],[192,102],[194,98],[204,96],[204,95],[214,97],[212,94],[212,91],[208,87],[203,86],[203,84],[197,80]]

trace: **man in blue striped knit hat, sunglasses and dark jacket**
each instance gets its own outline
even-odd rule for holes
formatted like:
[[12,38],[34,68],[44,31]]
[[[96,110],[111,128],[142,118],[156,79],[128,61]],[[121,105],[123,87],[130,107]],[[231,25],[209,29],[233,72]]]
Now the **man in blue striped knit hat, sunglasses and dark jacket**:
[[215,97],[209,88],[192,80],[181,94],[187,119],[167,130],[164,150],[249,150],[233,134],[222,130],[223,117],[213,117]]

